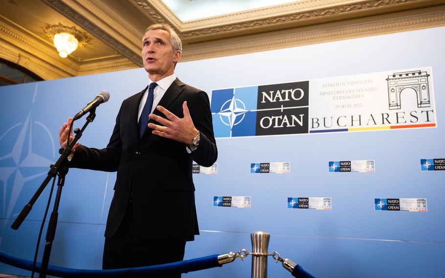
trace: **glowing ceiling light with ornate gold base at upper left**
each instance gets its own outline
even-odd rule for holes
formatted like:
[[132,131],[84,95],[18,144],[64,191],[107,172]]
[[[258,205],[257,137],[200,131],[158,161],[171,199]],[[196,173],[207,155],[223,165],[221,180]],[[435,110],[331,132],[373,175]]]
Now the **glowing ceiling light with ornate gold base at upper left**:
[[50,25],[44,28],[46,36],[54,42],[60,57],[66,58],[77,46],[86,46],[89,43],[87,33],[79,31],[76,27],[68,27],[62,23]]

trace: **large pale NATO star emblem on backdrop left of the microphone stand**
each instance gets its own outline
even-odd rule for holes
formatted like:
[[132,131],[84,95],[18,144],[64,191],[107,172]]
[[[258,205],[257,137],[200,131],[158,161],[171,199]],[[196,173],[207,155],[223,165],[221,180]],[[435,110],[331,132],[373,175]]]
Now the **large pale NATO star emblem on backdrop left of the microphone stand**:
[[[37,136],[33,137],[33,134]],[[26,188],[30,184],[37,189],[41,182],[37,178],[45,175],[53,163],[39,153],[49,151],[54,158],[55,147],[49,129],[43,123],[33,121],[31,113],[24,123],[15,124],[0,135],[0,146],[0,215],[5,219],[4,228],[7,220],[15,218],[32,196],[21,197],[22,191],[33,191],[34,188]]]

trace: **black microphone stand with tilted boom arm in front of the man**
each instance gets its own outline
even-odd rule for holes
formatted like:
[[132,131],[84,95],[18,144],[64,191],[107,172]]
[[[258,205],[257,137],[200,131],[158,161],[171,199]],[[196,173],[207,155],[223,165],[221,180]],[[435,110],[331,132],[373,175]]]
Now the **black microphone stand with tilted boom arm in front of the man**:
[[[76,136],[74,139],[69,143],[69,145],[65,149],[60,149],[59,153],[61,154],[59,159],[56,163],[51,165],[51,169],[48,172],[48,175],[46,176],[44,182],[40,187],[37,189],[36,193],[32,196],[29,203],[22,209],[19,216],[17,216],[16,220],[12,224],[11,228],[14,230],[19,229],[20,225],[22,225],[23,220],[28,215],[29,211],[31,211],[32,206],[39,198],[40,194],[42,194],[43,190],[45,189],[46,185],[49,183],[49,181],[54,178],[57,174],[59,175],[58,181],[57,181],[57,194],[56,199],[54,201],[54,208],[51,212],[51,217],[49,219],[48,228],[46,230],[46,243],[45,243],[45,251],[42,258],[42,266],[40,270],[40,278],[46,277],[46,272],[48,269],[48,263],[49,263],[49,256],[51,254],[51,247],[52,242],[54,240],[54,235],[56,233],[56,227],[57,227],[57,218],[58,218],[58,210],[59,210],[59,203],[60,203],[60,197],[62,195],[62,188],[65,184],[65,177],[68,173],[68,156],[71,153],[72,148],[76,144],[76,142],[82,137],[82,133],[87,128],[88,124],[92,122],[96,116],[96,109],[93,109],[90,111],[89,116],[87,117],[87,121],[82,127],[82,129],[76,128],[74,130],[74,133]],[[69,135],[68,135],[69,136]]]

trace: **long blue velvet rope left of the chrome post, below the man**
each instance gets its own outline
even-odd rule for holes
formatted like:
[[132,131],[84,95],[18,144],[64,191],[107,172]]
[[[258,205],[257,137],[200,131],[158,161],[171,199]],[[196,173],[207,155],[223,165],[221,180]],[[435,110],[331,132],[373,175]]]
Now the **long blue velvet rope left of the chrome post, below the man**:
[[[0,262],[9,264],[25,270],[32,270],[33,262],[24,260],[0,251]],[[135,268],[121,268],[111,270],[88,270],[88,269],[73,269],[54,265],[48,265],[47,274],[56,277],[66,278],[96,278],[96,277],[147,277],[154,274],[166,273],[187,273],[197,270],[203,270],[222,266],[218,263],[218,255],[209,255],[190,260],[183,260],[173,263],[159,264],[153,266],[135,267]],[[40,272],[41,263],[36,264],[36,272]]]

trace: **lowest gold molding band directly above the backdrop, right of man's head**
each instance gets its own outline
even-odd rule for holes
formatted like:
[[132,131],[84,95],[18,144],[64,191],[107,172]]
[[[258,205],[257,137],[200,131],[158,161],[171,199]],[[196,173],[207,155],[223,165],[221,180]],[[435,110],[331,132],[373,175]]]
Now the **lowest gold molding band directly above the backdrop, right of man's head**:
[[182,54],[181,61],[185,62],[278,48],[319,44],[444,25],[445,11],[431,12],[396,19],[373,21],[370,23],[356,23],[340,27],[267,36],[267,39],[257,36],[258,38],[245,38],[242,42],[235,41],[214,46],[197,46],[196,48],[186,49]]

